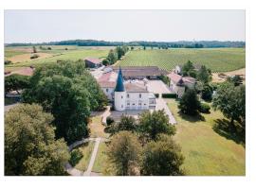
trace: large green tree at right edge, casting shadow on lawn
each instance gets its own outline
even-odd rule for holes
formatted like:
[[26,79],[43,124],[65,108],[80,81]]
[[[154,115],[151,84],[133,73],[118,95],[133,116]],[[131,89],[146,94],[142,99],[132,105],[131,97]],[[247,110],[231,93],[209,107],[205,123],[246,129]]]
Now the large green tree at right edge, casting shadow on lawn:
[[246,120],[246,86],[234,86],[233,83],[222,83],[213,97],[212,107],[223,112],[230,119],[231,126],[234,121],[245,123]]

